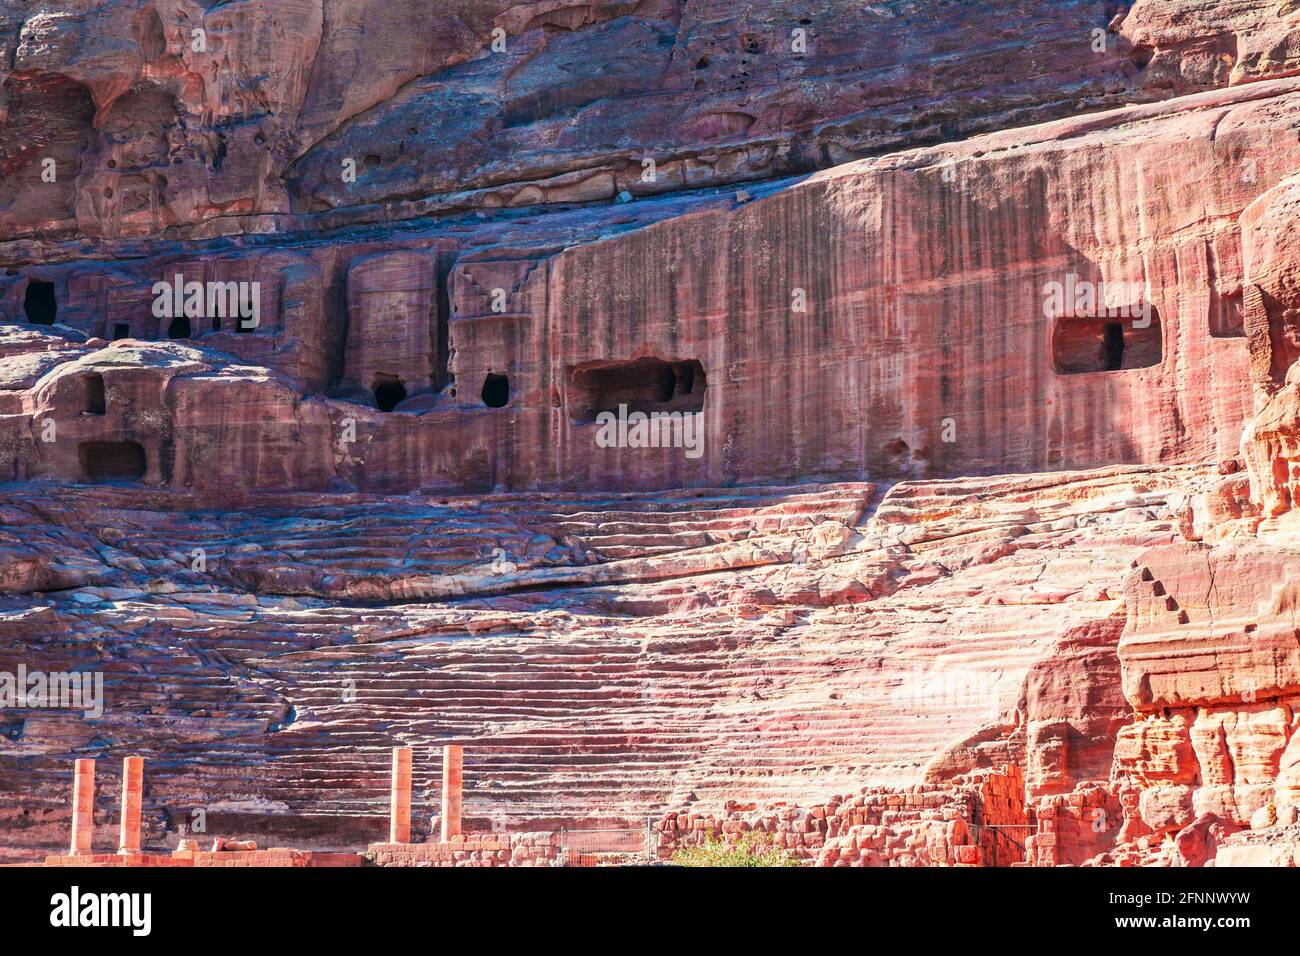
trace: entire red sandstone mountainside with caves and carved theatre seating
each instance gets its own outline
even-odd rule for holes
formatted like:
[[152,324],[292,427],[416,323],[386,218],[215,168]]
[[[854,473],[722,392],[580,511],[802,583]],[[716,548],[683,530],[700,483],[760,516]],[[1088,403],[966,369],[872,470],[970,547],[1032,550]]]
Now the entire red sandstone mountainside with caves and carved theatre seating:
[[1300,7],[805,7],[0,0],[0,860],[1295,858]]

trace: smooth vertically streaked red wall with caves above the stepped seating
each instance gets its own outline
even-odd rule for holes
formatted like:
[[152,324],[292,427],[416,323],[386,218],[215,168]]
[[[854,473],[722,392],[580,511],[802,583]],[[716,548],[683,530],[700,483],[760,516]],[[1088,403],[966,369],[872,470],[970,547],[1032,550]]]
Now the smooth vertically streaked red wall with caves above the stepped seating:
[[[1258,352],[1242,339],[1256,294],[1239,221],[1300,164],[1295,88],[1200,94],[744,194],[330,245],[151,243],[133,260],[27,268],[0,304],[27,317],[44,290],[87,350],[170,336],[292,380],[311,401],[277,415],[322,467],[268,484],[273,472],[231,462],[213,483],[233,490],[650,489],[1221,459],[1249,415]],[[159,282],[256,284],[260,324],[159,319]],[[1045,316],[1053,284],[1121,290],[1132,317]],[[1119,375],[1097,346],[1106,326]],[[698,371],[676,405],[656,395],[654,369],[670,367]],[[159,480],[192,485],[178,457],[237,414],[220,377],[194,405],[157,393],[177,436],[148,453]],[[12,449],[55,408],[17,385],[14,411],[30,418],[8,420]],[[602,447],[595,412],[620,402],[702,412],[702,449]],[[8,462],[16,477],[83,477],[69,458]]]

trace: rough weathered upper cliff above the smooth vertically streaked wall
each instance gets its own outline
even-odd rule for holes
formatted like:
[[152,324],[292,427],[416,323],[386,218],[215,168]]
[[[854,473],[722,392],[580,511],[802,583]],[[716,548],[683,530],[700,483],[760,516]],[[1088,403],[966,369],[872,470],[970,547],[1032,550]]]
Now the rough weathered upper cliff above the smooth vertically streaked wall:
[[6,0],[0,237],[806,172],[1287,75],[1275,8]]

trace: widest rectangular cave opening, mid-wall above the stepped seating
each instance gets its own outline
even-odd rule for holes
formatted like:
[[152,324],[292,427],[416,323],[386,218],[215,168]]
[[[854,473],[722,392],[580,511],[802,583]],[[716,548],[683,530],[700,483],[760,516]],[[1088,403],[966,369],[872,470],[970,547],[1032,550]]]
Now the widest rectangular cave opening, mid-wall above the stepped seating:
[[698,359],[634,359],[575,365],[568,369],[569,407],[576,421],[594,421],[603,411],[703,411],[708,388]]

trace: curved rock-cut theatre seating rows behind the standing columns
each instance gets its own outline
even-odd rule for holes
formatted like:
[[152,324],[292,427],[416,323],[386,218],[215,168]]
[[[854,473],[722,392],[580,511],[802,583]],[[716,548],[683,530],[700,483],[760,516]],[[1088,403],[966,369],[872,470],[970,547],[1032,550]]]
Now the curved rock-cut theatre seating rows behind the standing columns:
[[[1195,480],[1143,468],[904,485],[864,523],[868,488],[845,488],[838,503],[793,490],[731,493],[697,519],[699,532],[731,541],[722,545],[702,544],[663,502],[667,523],[625,528],[619,545],[673,557],[685,576],[659,581],[603,572],[645,558],[602,559],[572,518],[520,502],[529,524],[552,538],[575,535],[590,555],[549,558],[582,562],[550,589],[529,585],[526,536],[452,503],[434,527],[484,535],[472,600],[368,607],[291,589],[280,570],[280,597],[264,584],[222,583],[257,551],[211,536],[209,574],[178,570],[192,519],[168,518],[160,502],[130,511],[131,496],[87,490],[31,501],[22,507],[64,528],[38,550],[77,548],[105,579],[4,598],[6,665],[95,663],[109,675],[108,706],[103,721],[36,711],[13,728],[8,773],[40,783],[27,814],[6,821],[6,842],[49,852],[64,826],[65,754],[92,739],[147,758],[146,845],[170,845],[195,806],[226,836],[304,848],[380,839],[395,743],[426,754],[415,761],[412,810],[415,832],[426,834],[441,769],[430,748],[448,739],[465,744],[465,822],[480,831],[640,821],[727,799],[798,804],[863,784],[905,788],[922,775],[942,786],[1035,750],[1056,756],[1050,766],[1034,758],[1028,792],[1067,792],[1109,771],[1106,731],[1128,719],[1114,659],[1123,602],[1109,583],[1141,549],[1176,538],[1170,496],[1180,501]],[[564,511],[606,514],[608,503],[597,503],[576,499]],[[338,566],[367,541],[359,520],[384,503],[354,507],[326,516],[292,503],[302,516],[266,519],[282,541],[296,523],[311,528]],[[736,538],[728,528],[742,515],[763,527],[764,514],[767,531]],[[151,532],[131,531],[142,520]],[[221,519],[237,531],[256,520],[256,511]],[[395,520],[411,528],[410,516]],[[159,554],[152,541],[164,538],[179,553]],[[663,550],[673,538],[685,550]],[[415,551],[391,549],[391,570],[369,574],[407,574],[404,555],[437,541],[425,540]],[[382,538],[372,541],[377,559]],[[500,593],[493,548],[519,566],[519,589]],[[66,550],[62,563],[73,563]],[[1096,687],[1034,676],[1088,656]],[[1080,731],[1096,735],[1091,749]],[[1069,745],[1053,750],[1052,740]],[[109,801],[105,792],[103,813]]]

